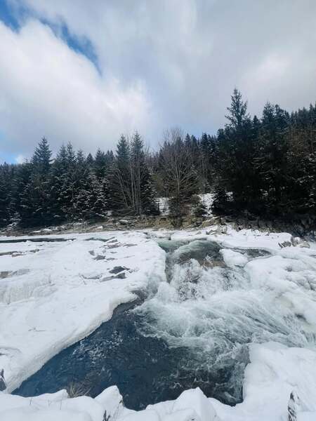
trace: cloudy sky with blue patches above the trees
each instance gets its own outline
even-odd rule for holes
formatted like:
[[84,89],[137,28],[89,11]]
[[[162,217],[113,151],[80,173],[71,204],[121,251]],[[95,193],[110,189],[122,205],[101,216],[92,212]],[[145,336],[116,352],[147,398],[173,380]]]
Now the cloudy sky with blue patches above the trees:
[[43,136],[216,133],[235,87],[261,115],[316,101],[315,0],[0,0],[0,162]]

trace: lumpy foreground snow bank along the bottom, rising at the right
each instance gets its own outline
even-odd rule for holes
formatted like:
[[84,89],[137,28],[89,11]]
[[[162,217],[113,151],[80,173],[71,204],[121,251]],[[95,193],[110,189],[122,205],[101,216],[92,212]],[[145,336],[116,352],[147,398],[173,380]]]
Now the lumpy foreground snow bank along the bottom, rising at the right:
[[[316,420],[316,352],[277,342],[250,346],[244,375],[244,401],[227,406],[202,391],[183,392],[176,401],[124,408],[117,387],[96,397],[70,399],[67,392],[22,398],[0,393],[1,421],[286,421],[291,393],[298,421]],[[106,412],[105,412],[106,411]]]

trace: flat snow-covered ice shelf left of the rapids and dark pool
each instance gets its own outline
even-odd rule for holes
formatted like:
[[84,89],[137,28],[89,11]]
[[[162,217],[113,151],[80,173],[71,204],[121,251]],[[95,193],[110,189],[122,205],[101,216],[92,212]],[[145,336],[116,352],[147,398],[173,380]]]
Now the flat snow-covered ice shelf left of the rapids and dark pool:
[[[0,368],[8,391],[110,319],[115,307],[135,298],[133,290],[165,276],[164,251],[137,232],[1,243],[1,250],[1,272],[8,276],[0,279]],[[21,253],[13,257],[12,250]],[[127,268],[125,279],[110,279],[115,266]]]

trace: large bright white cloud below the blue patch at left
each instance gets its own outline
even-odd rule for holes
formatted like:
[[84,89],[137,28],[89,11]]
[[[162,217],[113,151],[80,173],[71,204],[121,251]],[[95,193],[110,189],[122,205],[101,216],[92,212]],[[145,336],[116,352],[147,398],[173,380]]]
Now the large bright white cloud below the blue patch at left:
[[[141,81],[125,86],[29,21],[19,33],[0,23],[0,123],[14,152],[45,135],[53,145],[112,147],[121,132],[146,128],[150,102]],[[32,150],[32,149],[31,149]]]

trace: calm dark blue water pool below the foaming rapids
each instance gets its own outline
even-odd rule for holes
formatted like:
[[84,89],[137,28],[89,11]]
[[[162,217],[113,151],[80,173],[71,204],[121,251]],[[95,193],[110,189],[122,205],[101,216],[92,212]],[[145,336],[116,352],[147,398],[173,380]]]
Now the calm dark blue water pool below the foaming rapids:
[[230,395],[234,393],[229,387],[233,370],[192,371],[194,353],[140,334],[141,316],[131,311],[138,304],[119,306],[110,321],[53,357],[14,394],[36,396],[74,385],[94,397],[117,385],[126,407],[139,410],[150,403],[176,399],[185,389],[199,386],[207,396],[221,401],[241,400],[241,387],[239,396]]

